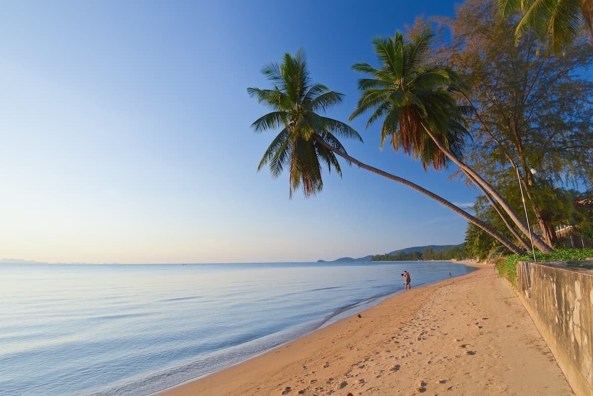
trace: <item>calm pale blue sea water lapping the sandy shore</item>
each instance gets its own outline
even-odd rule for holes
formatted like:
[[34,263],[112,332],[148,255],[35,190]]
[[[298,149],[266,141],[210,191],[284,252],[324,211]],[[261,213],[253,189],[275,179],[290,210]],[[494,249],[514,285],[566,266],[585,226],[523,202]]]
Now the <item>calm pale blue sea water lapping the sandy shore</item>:
[[2,264],[0,396],[144,396],[470,267]]

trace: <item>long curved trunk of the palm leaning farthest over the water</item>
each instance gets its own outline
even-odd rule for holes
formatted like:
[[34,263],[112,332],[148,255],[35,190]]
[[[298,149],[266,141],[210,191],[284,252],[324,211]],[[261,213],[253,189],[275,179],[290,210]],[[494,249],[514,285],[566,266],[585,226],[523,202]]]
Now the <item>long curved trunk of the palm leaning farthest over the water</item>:
[[404,184],[404,186],[408,186],[408,187],[410,187],[410,188],[418,191],[419,193],[422,193],[425,196],[436,200],[437,202],[441,203],[442,205],[447,206],[453,212],[457,213],[458,215],[460,215],[463,218],[467,219],[467,221],[473,223],[474,225],[476,225],[479,228],[481,228],[484,231],[486,231],[488,234],[492,235],[493,238],[495,238],[500,243],[502,243],[503,245],[505,245],[505,247],[507,247],[513,253],[517,253],[517,254],[523,254],[524,253],[524,251],[522,251],[519,247],[517,247],[515,244],[513,244],[511,241],[509,241],[509,239],[505,238],[502,234],[500,234],[494,228],[492,228],[491,226],[487,225],[483,221],[475,218],[474,216],[470,215],[469,213],[467,213],[465,210],[461,209],[460,207],[457,207],[457,206],[453,205],[448,200],[446,200],[446,199],[444,199],[444,198],[436,195],[435,193],[432,193],[431,191],[428,191],[426,189],[423,189],[423,187],[420,187],[417,184],[412,183],[412,181],[406,180],[406,179],[401,178],[401,177],[398,177],[396,175],[392,175],[390,173],[387,173],[387,172],[382,171],[380,169],[377,169],[375,167],[371,167],[370,165],[366,165],[363,162],[358,161],[358,159],[353,158],[353,157],[350,157],[350,155],[347,155],[347,154],[345,154],[345,153],[343,153],[341,151],[338,151],[336,148],[334,148],[334,147],[330,146],[329,144],[327,144],[318,135],[313,135],[313,137],[314,137],[315,140],[317,140],[318,143],[320,143],[320,145],[324,146],[326,149],[330,150],[334,154],[337,154],[340,157],[346,159],[346,161],[353,162],[353,164],[358,165],[359,168],[362,168],[362,169],[367,170],[369,172],[372,172],[374,174],[378,174],[378,175],[380,175],[382,177],[385,177],[385,178],[388,178],[390,180],[397,181],[398,183]]

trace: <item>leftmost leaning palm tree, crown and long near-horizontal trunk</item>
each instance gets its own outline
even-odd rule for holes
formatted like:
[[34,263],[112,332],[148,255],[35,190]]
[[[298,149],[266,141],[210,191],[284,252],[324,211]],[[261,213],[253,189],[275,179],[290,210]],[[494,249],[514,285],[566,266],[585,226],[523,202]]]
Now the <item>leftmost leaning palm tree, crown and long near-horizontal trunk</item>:
[[[280,129],[280,133],[264,152],[257,170],[268,165],[272,176],[278,177],[285,168],[288,168],[290,197],[293,191],[299,188],[305,196],[314,195],[323,189],[322,164],[326,164],[329,171],[333,167],[337,174],[342,175],[336,158],[338,155],[346,159],[349,164],[354,163],[360,168],[402,183],[435,199],[482,228],[509,250],[514,253],[523,252],[498,231],[442,197],[409,180],[378,170],[350,157],[336,135],[362,141],[361,136],[347,124],[320,114],[327,108],[341,103],[344,95],[330,91],[324,85],[311,82],[302,50],[299,50],[296,56],[286,53],[282,63],[270,63],[264,66],[262,73],[272,81],[273,88],[270,90],[247,88],[247,92],[273,111],[257,119],[251,126],[256,132]],[[436,161],[445,161],[436,149],[433,154],[438,157]]]

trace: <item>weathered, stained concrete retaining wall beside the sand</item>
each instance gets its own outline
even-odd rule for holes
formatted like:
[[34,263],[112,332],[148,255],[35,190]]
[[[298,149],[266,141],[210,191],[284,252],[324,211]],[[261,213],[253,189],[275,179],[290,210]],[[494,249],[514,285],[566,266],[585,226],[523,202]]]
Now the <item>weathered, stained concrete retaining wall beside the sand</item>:
[[593,395],[593,270],[519,261],[517,293],[576,396]]

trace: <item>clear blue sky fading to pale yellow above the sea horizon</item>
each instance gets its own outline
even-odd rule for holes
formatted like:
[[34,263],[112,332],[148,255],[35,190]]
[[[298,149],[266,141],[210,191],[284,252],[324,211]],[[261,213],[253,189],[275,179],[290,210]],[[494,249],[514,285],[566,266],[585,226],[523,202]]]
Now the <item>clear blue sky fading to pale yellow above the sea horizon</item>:
[[[466,221],[343,164],[324,190],[288,197],[257,164],[275,133],[247,87],[304,48],[315,82],[358,100],[371,40],[445,0],[5,2],[0,15],[0,258],[87,263],[334,260],[458,244]],[[351,123],[350,155],[464,205],[476,193],[425,173],[378,126]]]

